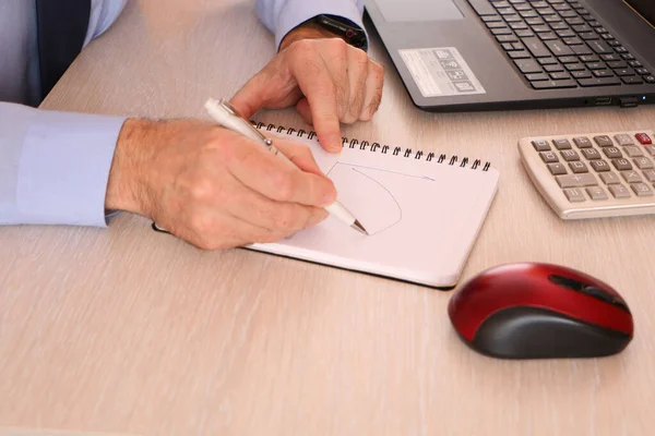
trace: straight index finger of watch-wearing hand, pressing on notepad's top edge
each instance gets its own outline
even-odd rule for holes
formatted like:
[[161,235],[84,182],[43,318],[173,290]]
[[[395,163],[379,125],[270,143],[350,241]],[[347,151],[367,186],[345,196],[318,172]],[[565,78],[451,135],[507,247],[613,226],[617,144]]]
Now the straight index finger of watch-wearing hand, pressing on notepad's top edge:
[[295,44],[294,50],[291,74],[307,97],[319,142],[326,150],[340,150],[341,130],[332,76],[313,46]]

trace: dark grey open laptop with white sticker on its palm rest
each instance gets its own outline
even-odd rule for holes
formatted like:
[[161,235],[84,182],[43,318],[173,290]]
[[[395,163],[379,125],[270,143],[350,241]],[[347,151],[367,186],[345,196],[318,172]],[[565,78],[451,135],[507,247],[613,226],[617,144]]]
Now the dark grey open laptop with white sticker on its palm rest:
[[[655,101],[655,0],[366,0],[430,111]],[[370,28],[370,26],[369,26]]]

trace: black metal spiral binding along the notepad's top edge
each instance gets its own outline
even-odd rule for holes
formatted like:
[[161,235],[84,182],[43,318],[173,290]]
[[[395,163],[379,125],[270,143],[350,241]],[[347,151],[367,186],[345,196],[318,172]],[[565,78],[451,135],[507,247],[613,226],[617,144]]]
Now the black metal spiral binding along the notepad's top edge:
[[[250,122],[257,126],[258,129],[263,129],[265,126],[266,131],[272,131],[275,130],[277,133],[282,133],[286,130],[286,134],[287,135],[296,135],[298,137],[307,137],[308,140],[313,140],[317,135],[317,132],[314,132],[313,130],[310,132],[306,132],[305,130],[300,129],[300,130],[296,130],[294,128],[289,128],[286,129],[284,125],[275,125],[275,124],[264,124],[262,122],[257,122],[257,121],[252,121],[250,120]],[[439,157],[437,157],[437,155],[432,152],[429,152],[428,154],[426,154],[422,150],[412,150],[412,148],[405,148],[403,150],[402,147],[391,147],[386,144],[380,145],[379,143],[369,143],[368,141],[362,141],[361,143],[358,140],[348,140],[347,137],[342,137],[342,144],[344,147],[348,147],[348,148],[356,148],[359,147],[360,150],[366,152],[367,148],[369,152],[373,152],[373,153],[378,153],[378,150],[380,150],[380,153],[382,153],[383,155],[386,154],[392,154],[393,156],[402,156],[405,158],[414,158],[414,159],[425,159],[427,161],[432,161],[436,160],[437,164],[448,164],[450,166],[455,166],[458,164],[458,167],[461,168],[471,168],[472,170],[476,170],[479,167],[481,167],[481,171],[489,171],[489,168],[491,168],[491,164],[490,162],[485,162],[485,165],[483,166],[483,161],[480,159],[475,159],[473,161],[473,164],[468,165],[469,159],[467,157],[462,158],[462,160],[460,161],[460,157],[457,155],[453,155],[449,156],[441,154],[439,155]],[[425,157],[424,157],[425,156]],[[448,162],[446,162],[448,160]]]

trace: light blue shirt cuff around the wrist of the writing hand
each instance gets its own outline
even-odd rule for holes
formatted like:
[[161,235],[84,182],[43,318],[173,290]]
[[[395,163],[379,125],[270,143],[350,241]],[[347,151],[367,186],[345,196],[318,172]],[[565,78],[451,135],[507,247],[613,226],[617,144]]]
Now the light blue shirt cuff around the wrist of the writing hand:
[[21,221],[106,227],[107,181],[124,120],[39,110],[21,154],[16,185]]

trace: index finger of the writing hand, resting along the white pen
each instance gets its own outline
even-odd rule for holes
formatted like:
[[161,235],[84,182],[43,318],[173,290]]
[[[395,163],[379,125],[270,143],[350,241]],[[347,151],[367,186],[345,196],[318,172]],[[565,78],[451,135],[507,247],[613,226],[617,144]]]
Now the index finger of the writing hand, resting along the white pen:
[[227,168],[241,183],[278,201],[324,207],[334,202],[334,185],[325,177],[305,172],[296,165],[243,140],[226,147]]

